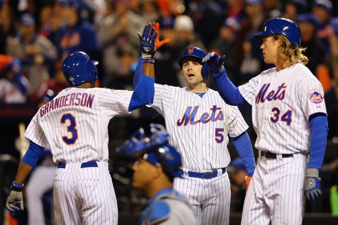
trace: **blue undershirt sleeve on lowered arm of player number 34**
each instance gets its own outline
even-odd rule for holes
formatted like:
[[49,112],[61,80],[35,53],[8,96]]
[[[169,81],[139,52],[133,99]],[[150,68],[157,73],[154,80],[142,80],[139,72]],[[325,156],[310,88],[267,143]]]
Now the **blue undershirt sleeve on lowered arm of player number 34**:
[[327,141],[327,116],[324,113],[312,114],[309,117],[309,123],[311,126],[311,134],[308,168],[321,169]]

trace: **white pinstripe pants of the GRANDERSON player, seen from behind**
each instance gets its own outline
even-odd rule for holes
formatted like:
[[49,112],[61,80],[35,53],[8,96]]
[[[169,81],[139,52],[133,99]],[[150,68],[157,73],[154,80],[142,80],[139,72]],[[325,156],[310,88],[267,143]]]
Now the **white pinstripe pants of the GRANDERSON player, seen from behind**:
[[117,202],[107,162],[58,168],[54,180],[56,224],[116,224]]

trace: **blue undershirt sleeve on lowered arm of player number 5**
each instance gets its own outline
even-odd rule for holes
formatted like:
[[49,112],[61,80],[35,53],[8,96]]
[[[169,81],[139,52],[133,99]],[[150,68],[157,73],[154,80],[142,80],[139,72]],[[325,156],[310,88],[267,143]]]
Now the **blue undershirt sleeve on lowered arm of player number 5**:
[[231,137],[231,140],[236,148],[238,156],[245,165],[248,176],[252,177],[256,164],[248,133],[245,131],[237,137]]

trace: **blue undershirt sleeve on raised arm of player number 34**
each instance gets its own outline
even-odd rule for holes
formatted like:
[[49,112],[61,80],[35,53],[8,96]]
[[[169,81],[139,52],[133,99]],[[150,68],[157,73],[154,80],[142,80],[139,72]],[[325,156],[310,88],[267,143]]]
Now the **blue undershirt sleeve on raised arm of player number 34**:
[[247,103],[238,88],[229,80],[225,68],[221,70],[211,70],[212,76],[218,93],[220,93],[225,103],[233,106]]

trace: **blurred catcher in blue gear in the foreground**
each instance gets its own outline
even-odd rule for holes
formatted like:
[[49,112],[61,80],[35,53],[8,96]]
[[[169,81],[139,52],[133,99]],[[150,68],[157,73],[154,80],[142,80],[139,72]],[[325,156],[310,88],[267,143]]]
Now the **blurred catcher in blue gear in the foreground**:
[[160,124],[151,124],[152,135],[136,131],[117,152],[137,157],[132,166],[132,185],[146,192],[149,200],[139,224],[199,224],[187,199],[172,187],[180,177],[181,156],[168,143],[170,138]]

